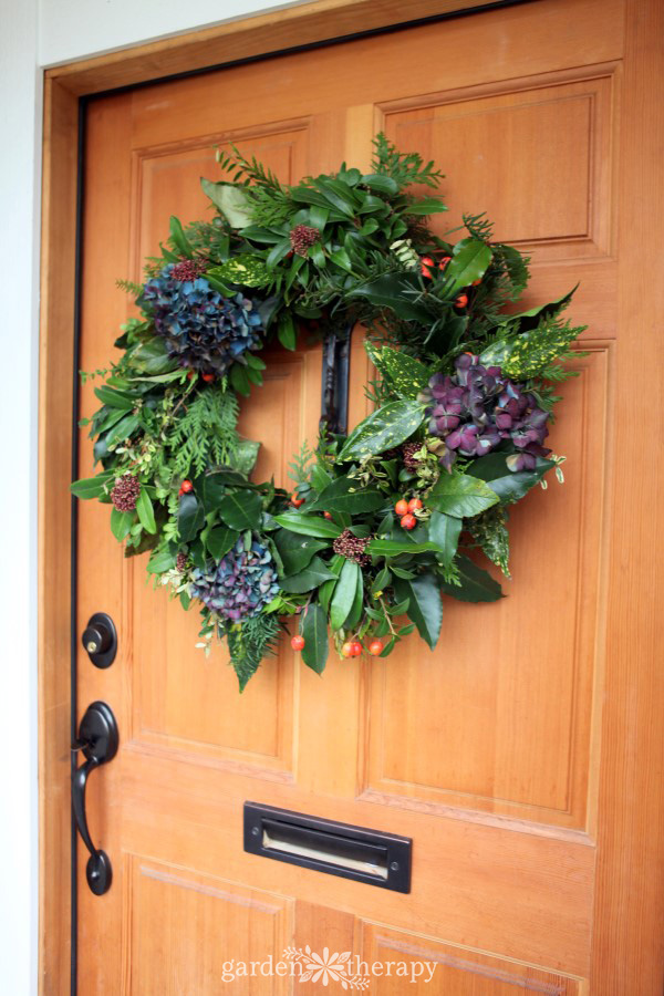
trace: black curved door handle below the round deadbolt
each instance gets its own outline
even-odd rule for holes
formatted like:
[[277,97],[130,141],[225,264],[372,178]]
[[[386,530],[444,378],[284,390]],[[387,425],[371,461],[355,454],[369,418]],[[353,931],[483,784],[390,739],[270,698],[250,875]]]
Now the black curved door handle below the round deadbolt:
[[72,772],[72,807],[79,833],[90,851],[85,873],[87,884],[95,895],[103,895],[108,891],[113,869],[106,852],[95,848],[92,842],[85,816],[85,786],[95,768],[115,757],[118,743],[117,723],[111,707],[105,702],[93,702],[81,719],[79,737],[72,748],[81,749],[85,756],[85,762]]

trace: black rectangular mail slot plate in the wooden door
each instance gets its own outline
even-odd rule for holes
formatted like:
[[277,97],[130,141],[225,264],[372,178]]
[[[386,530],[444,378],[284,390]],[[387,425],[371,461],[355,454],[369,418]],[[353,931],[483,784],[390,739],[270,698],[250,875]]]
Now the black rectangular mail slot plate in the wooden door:
[[411,891],[409,837],[245,802],[245,850],[394,892]]

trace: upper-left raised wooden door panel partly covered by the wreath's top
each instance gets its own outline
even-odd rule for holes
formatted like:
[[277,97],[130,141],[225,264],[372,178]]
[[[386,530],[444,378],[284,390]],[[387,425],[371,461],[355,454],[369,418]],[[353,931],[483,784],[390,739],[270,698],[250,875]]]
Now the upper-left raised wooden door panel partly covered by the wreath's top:
[[216,132],[184,142],[134,151],[132,266],[138,279],[142,260],[158,252],[168,236],[168,218],[183,225],[212,217],[209,199],[199,184],[201,176],[220,179],[215,148],[236,145],[243,155],[256,156],[284,183],[307,173],[309,133],[305,123],[268,123],[251,131]]

